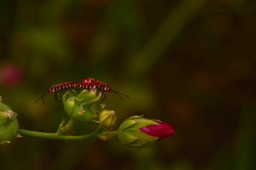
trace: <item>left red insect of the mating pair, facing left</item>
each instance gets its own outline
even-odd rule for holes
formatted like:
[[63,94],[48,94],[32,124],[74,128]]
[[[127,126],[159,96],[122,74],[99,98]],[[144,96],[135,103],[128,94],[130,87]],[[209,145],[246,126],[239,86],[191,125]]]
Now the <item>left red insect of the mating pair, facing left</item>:
[[[38,102],[38,100],[40,98],[43,99],[43,96],[45,96],[46,94],[54,94],[54,100],[58,101],[57,100],[57,93],[58,92],[65,91],[65,90],[68,90],[68,89],[73,89],[75,87],[80,87],[80,84],[79,83],[75,83],[75,82],[66,82],[66,83],[62,83],[62,84],[55,84],[55,85],[51,86],[48,89],[48,91],[46,91],[45,94],[43,94],[38,99],[36,99],[36,102]],[[45,104],[44,101],[43,101],[43,104]]]

